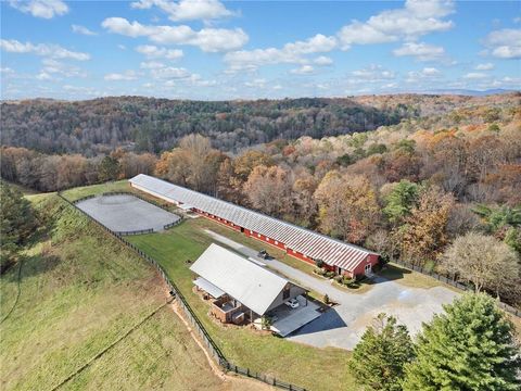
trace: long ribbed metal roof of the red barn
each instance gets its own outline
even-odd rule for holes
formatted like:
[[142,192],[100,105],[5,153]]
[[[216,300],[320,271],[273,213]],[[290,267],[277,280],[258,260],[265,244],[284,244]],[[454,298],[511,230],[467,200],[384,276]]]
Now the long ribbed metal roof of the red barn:
[[329,238],[149,175],[140,174],[129,181],[173,202],[193,205],[200,211],[221,217],[244,229],[262,234],[284,243],[289,249],[314,260],[322,260],[331,266],[353,270],[367,255],[377,254],[357,245]]

